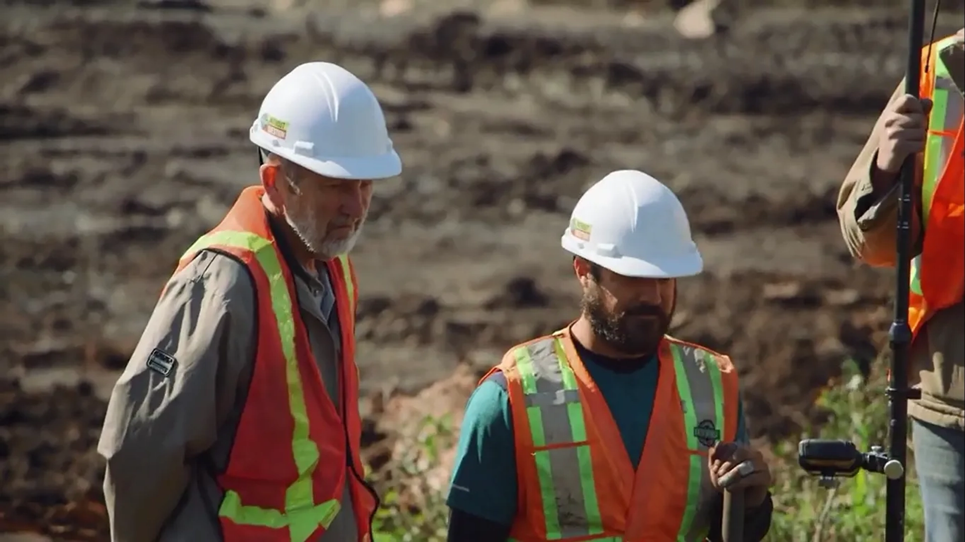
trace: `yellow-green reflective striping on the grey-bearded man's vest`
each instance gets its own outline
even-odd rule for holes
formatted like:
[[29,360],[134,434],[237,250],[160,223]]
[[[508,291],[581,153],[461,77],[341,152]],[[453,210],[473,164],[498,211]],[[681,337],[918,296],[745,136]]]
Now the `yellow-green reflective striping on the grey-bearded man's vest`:
[[[291,313],[289,287],[285,284],[282,262],[279,261],[271,241],[246,231],[216,231],[198,239],[184,253],[184,257],[197,254],[214,246],[227,246],[251,251],[262,266],[271,295],[271,307],[275,313],[275,325],[281,339],[282,353],[285,356],[286,382],[289,388],[289,408],[293,431],[291,453],[298,469],[298,478],[285,491],[285,510],[274,510],[246,505],[234,491],[225,494],[218,515],[230,519],[237,525],[250,525],[267,528],[288,528],[292,542],[305,542],[321,526],[328,528],[339,513],[341,504],[337,500],[316,504],[313,496],[312,475],[318,463],[318,447],[309,438],[308,410],[305,406],[305,392],[298,372],[298,359],[295,355],[295,324]],[[347,271],[347,258],[344,269]],[[349,275],[346,275],[349,277]],[[351,281],[345,281],[350,284]],[[349,292],[351,293],[351,292]]]

